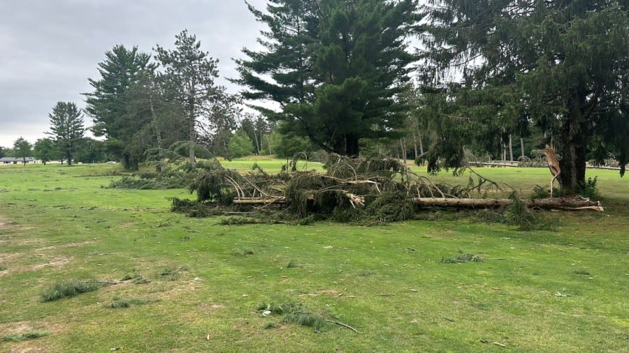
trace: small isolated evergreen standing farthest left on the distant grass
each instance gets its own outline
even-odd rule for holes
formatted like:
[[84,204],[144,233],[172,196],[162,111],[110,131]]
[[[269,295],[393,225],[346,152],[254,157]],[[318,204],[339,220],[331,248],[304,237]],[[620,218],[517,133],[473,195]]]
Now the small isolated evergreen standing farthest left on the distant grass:
[[85,129],[83,128],[83,115],[79,108],[72,102],[57,102],[52,107],[50,118],[50,131],[55,145],[64,153],[68,160],[68,165],[72,165],[72,155],[75,145],[82,139]]

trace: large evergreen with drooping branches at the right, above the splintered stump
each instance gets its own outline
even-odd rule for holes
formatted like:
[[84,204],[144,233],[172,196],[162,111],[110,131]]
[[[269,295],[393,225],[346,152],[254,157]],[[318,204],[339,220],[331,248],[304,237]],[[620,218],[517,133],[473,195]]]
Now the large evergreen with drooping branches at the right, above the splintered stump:
[[[584,182],[588,151],[599,158],[613,152],[623,174],[629,158],[628,10],[627,0],[429,1],[424,83],[431,94],[443,93],[433,94],[441,102],[432,105],[433,113],[459,126],[473,121],[480,130],[537,123],[549,140],[554,136],[567,190]],[[443,75],[453,69],[458,75]],[[454,116],[461,119],[449,118]],[[451,136],[462,141],[470,135],[460,131]],[[461,146],[454,147],[441,151],[450,166],[460,162],[452,156]]]

